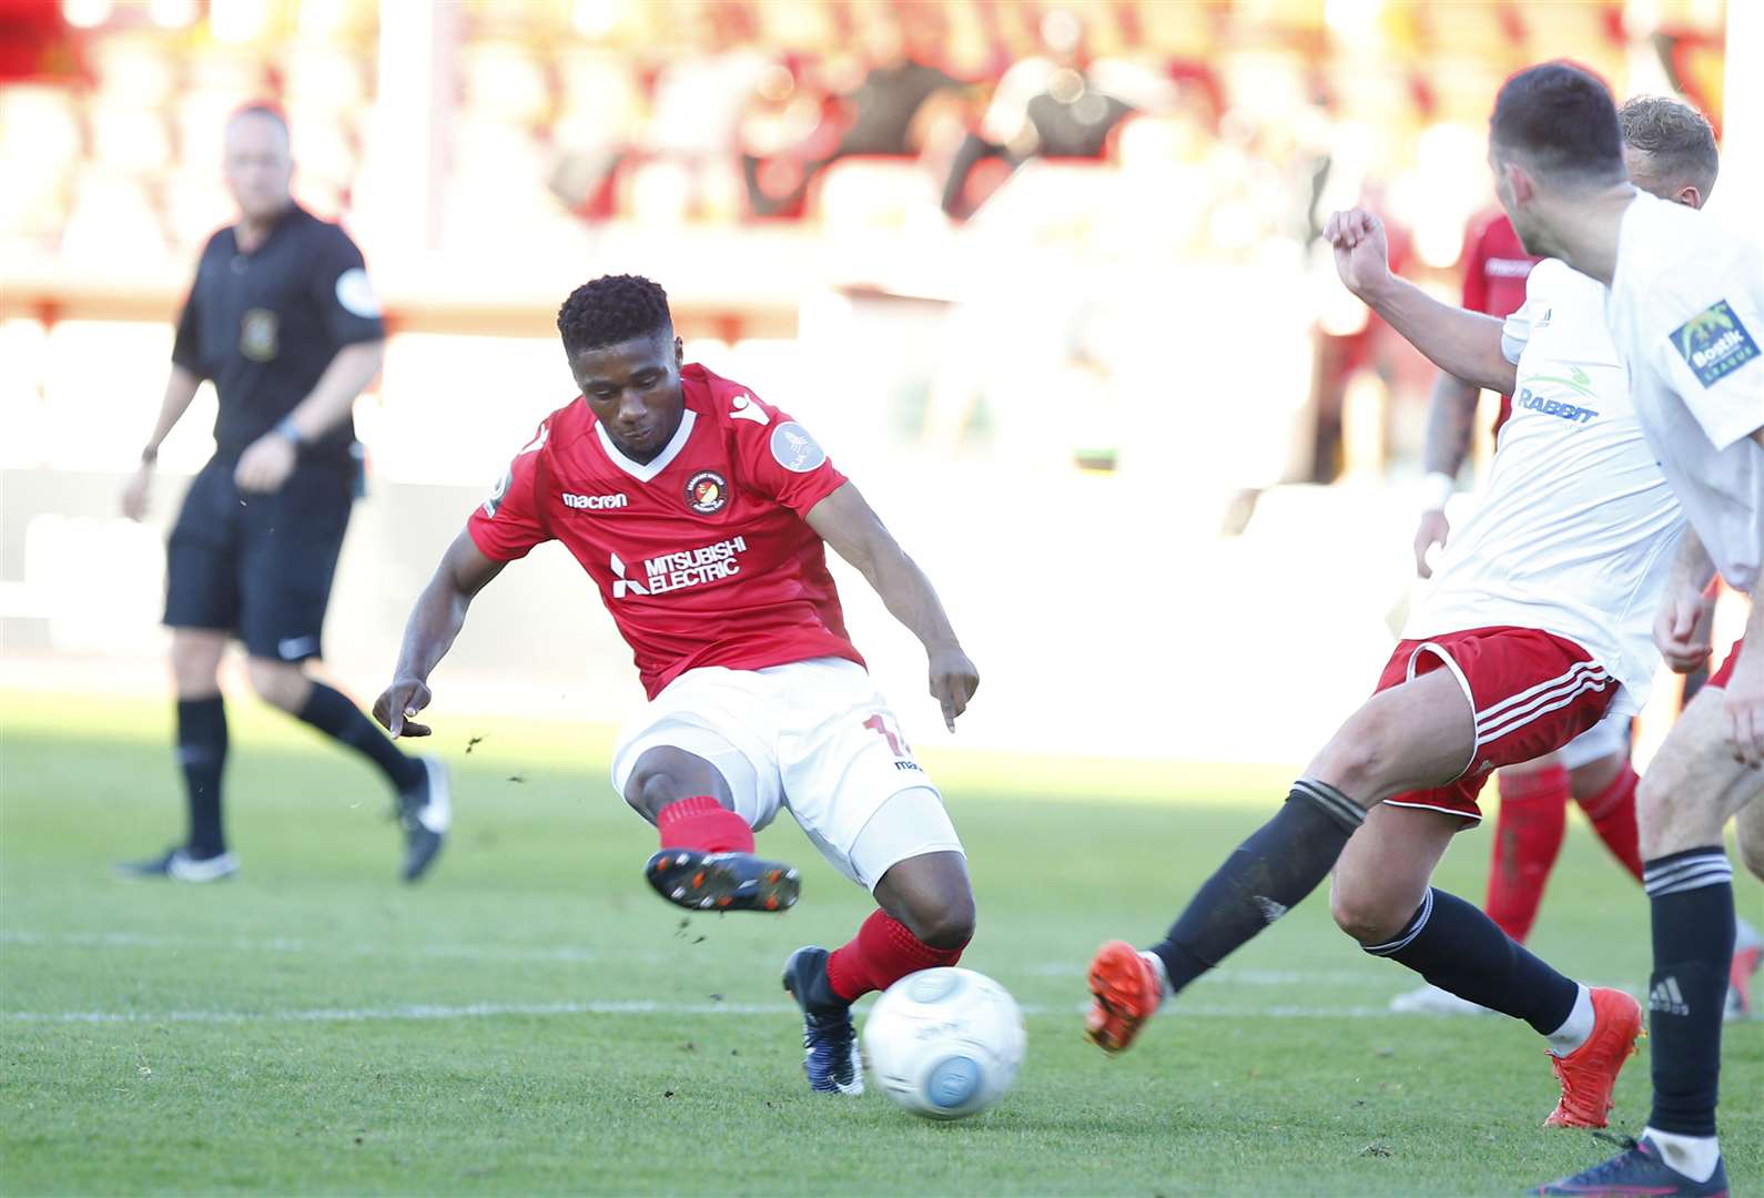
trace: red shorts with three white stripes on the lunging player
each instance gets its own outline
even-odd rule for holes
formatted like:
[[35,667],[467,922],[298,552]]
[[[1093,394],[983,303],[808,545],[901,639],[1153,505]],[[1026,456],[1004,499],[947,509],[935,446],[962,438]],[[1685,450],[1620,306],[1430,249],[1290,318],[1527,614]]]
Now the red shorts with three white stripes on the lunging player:
[[1379,690],[1448,669],[1476,713],[1476,750],[1454,782],[1385,799],[1480,820],[1476,794],[1501,766],[1552,753],[1598,723],[1618,679],[1566,637],[1536,628],[1471,628],[1404,640],[1390,655]]

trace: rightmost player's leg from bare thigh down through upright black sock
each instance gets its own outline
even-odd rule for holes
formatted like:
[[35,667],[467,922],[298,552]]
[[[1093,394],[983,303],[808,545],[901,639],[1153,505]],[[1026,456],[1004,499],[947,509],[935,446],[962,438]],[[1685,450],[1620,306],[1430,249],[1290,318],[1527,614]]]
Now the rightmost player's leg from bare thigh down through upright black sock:
[[1642,1140],[1695,1182],[1720,1168],[1715,1104],[1734,947],[1722,829],[1764,796],[1764,769],[1736,760],[1725,743],[1723,704],[1722,690],[1697,693],[1637,792],[1655,960],[1648,985],[1655,1099]]

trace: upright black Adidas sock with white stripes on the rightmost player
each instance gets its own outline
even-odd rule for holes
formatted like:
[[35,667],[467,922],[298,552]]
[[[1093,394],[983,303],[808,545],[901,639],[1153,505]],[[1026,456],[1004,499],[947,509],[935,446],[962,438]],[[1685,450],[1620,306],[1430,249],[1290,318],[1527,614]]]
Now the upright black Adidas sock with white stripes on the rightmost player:
[[1722,1078],[1722,1011],[1734,955],[1734,866],[1720,845],[1642,865],[1653,910],[1655,972],[1648,981],[1649,1127],[1715,1134]]

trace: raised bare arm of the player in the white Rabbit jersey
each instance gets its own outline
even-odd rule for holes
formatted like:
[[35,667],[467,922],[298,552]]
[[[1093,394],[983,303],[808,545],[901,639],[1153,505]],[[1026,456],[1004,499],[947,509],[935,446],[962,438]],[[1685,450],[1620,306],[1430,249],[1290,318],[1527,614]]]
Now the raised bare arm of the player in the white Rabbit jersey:
[[1385,226],[1365,208],[1337,212],[1323,226],[1342,284],[1383,316],[1436,367],[1491,392],[1512,393],[1517,371],[1501,353],[1501,321],[1452,307],[1390,273]]

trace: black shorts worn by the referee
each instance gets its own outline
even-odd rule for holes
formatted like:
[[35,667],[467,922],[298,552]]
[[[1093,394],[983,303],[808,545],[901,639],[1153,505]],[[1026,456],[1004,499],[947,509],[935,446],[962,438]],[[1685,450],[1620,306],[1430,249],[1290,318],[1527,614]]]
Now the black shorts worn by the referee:
[[252,656],[319,656],[325,607],[355,503],[353,466],[302,462],[273,494],[210,460],[166,549],[166,623],[236,633]]

